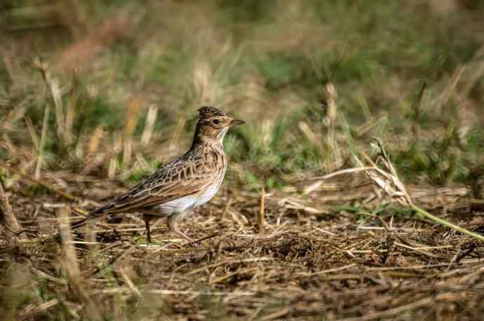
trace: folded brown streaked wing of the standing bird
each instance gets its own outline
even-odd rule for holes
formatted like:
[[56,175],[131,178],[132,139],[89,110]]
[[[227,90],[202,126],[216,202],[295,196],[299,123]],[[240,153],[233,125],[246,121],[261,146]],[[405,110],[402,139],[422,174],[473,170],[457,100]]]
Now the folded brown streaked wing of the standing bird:
[[200,161],[179,159],[168,163],[153,175],[116,198],[107,212],[129,212],[149,208],[170,200],[199,193],[213,182],[213,169]]

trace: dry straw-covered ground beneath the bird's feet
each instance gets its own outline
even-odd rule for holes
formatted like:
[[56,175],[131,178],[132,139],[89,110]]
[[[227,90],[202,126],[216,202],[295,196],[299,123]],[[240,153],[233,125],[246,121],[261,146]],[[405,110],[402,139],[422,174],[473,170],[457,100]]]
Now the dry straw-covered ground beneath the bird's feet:
[[[98,189],[124,189],[88,177],[76,182],[57,178],[73,194],[88,191],[87,199]],[[98,221],[73,241],[62,234],[61,242],[49,237],[57,217],[91,205],[56,193],[32,202],[33,191],[13,191],[26,232],[1,251],[4,312],[10,320],[482,320],[482,244],[394,214],[391,204],[360,210],[355,224],[349,204],[384,200],[368,184],[351,193],[328,185],[306,197],[265,194],[261,233],[262,196],[225,187],[183,225],[192,238],[206,238],[199,247],[170,235],[163,219],[147,247],[136,214]],[[481,205],[465,188],[410,191],[433,212],[484,231]],[[18,296],[34,297],[19,308]]]

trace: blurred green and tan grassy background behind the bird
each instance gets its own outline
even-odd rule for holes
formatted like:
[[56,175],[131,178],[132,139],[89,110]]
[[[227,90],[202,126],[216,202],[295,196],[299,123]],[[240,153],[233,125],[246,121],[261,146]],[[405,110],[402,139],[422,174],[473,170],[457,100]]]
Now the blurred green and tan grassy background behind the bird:
[[225,145],[232,175],[254,187],[354,165],[373,136],[408,181],[483,171],[483,1],[0,8],[0,158],[13,165],[38,153],[50,104],[44,168],[136,181],[187,149],[196,109],[213,105],[247,121]]

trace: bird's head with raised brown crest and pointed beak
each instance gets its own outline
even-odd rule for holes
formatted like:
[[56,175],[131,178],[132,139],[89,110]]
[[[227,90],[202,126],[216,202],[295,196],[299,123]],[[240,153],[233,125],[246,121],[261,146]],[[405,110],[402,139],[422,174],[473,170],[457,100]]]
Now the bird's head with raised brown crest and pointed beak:
[[243,123],[246,122],[233,118],[215,107],[201,107],[199,108],[199,121],[196,124],[195,139],[222,143],[229,128]]

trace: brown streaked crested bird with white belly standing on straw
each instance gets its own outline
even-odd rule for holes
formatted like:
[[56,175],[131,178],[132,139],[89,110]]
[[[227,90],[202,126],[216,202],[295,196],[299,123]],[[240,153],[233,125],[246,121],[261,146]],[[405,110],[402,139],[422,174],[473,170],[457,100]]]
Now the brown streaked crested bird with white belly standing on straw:
[[233,118],[222,109],[201,107],[189,150],[170,161],[126,193],[95,208],[72,224],[79,228],[95,219],[118,213],[142,214],[147,232],[147,244],[152,243],[149,223],[156,217],[168,217],[168,230],[180,235],[188,243],[178,224],[189,217],[193,209],[213,198],[220,188],[227,170],[223,139],[229,128],[245,121]]

